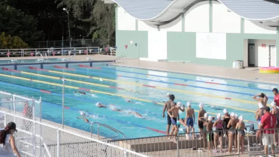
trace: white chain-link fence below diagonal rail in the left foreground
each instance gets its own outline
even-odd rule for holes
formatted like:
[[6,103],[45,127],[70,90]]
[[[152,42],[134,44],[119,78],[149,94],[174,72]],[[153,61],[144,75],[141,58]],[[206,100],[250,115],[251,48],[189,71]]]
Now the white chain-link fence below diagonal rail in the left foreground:
[[[0,124],[6,125],[15,117],[18,130],[14,135],[16,145],[20,154],[25,156],[147,157],[114,144],[94,140],[79,133],[73,133],[9,112],[0,111],[0,113],[4,115],[4,118],[0,119]],[[24,124],[32,124],[33,129],[28,130]]]

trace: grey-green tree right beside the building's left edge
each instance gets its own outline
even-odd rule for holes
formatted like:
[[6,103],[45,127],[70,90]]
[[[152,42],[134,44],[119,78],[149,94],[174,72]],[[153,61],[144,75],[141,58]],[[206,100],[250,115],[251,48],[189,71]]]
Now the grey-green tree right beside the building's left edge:
[[80,21],[78,27],[102,45],[115,44],[115,7],[100,0],[61,0],[58,7],[66,7]]

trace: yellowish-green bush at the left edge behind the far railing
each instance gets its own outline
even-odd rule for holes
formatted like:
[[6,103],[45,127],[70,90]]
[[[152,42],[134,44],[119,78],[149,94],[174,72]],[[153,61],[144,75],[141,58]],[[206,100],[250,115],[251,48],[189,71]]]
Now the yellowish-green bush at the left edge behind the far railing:
[[21,49],[28,45],[18,36],[6,36],[5,32],[0,33],[0,49]]

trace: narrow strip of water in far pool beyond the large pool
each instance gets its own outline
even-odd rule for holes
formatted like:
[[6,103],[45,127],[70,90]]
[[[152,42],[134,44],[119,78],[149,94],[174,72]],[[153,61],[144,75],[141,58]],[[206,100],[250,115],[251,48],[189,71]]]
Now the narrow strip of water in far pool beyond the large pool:
[[10,60],[0,60],[0,64],[6,63],[42,63],[42,62],[61,62],[62,59],[13,59]]

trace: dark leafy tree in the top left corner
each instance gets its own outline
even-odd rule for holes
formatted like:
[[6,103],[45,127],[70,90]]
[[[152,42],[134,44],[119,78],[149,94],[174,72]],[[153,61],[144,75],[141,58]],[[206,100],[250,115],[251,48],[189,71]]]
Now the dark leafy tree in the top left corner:
[[10,36],[18,36],[29,44],[34,44],[41,36],[37,30],[38,22],[22,11],[0,3],[0,29]]

